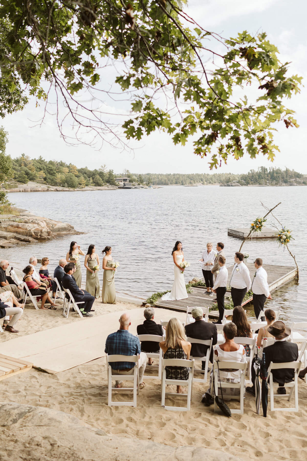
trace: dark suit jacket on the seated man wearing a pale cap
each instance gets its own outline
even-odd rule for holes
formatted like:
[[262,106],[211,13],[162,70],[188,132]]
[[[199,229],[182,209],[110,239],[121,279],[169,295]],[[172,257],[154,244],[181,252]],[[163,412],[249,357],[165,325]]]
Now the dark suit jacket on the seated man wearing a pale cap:
[[[217,330],[213,323],[205,322],[204,320],[196,320],[194,323],[185,325],[186,336],[194,339],[213,339],[212,345],[217,343]],[[191,355],[194,357],[203,357],[207,354],[209,346],[202,344],[192,344]],[[210,362],[213,363],[213,349],[210,353]]]

